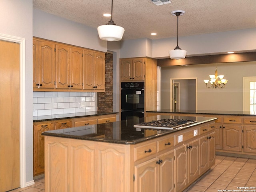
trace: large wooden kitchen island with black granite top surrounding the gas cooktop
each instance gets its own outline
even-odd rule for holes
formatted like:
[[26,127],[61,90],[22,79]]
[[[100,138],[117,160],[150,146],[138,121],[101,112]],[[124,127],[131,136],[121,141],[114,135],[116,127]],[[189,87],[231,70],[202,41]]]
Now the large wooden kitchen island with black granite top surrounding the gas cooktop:
[[[134,128],[166,118],[194,122]],[[215,164],[216,119],[162,115],[44,132],[45,191],[182,191]]]

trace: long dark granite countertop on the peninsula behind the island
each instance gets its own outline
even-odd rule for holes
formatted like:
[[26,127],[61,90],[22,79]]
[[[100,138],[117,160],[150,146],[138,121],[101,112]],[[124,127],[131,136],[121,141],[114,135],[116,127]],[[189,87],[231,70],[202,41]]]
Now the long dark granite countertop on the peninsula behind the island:
[[235,115],[235,116],[256,116],[256,112],[249,111],[211,111],[211,110],[152,110],[146,112],[156,112],[156,113],[181,113],[181,114],[208,114],[208,115]]

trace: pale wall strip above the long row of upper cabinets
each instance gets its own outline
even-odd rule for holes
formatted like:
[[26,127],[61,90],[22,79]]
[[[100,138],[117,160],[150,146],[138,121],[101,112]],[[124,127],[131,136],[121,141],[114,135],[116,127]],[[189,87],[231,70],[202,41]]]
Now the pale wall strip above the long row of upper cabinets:
[[107,42],[100,40],[96,28],[33,9],[33,36],[98,51],[107,51]]

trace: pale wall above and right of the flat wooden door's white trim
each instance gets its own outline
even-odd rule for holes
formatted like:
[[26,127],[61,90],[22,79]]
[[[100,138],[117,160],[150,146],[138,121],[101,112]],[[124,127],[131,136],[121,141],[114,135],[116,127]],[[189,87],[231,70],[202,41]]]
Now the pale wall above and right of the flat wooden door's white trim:
[[1,0],[0,33],[25,39],[26,182],[33,180],[32,0]]

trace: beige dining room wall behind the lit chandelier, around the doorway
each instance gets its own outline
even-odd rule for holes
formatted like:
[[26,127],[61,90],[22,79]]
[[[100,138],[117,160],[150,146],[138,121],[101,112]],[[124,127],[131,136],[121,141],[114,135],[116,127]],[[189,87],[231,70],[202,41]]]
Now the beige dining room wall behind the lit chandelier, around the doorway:
[[[206,88],[204,79],[209,79],[216,69],[228,80],[225,88]],[[197,77],[198,110],[243,111],[243,77],[256,76],[256,62],[200,64],[161,68],[161,106],[166,109],[170,100],[170,78]]]

